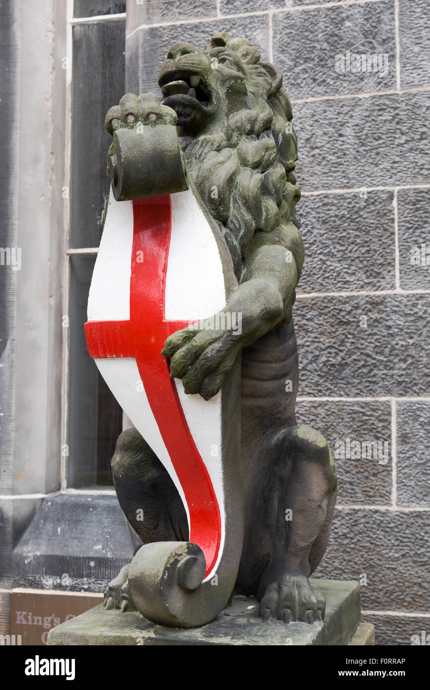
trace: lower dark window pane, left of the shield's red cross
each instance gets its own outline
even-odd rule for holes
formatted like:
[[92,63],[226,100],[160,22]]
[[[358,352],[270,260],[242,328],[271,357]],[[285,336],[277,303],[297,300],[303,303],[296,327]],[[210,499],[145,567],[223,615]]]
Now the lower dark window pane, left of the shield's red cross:
[[95,257],[70,257],[68,488],[112,486],[110,459],[122,410],[86,346],[84,323]]

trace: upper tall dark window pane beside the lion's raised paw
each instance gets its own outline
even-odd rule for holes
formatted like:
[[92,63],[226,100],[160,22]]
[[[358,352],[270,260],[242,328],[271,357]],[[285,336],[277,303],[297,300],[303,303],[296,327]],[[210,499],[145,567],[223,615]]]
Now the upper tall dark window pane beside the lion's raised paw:
[[112,137],[104,119],[125,90],[125,21],[73,26],[70,246],[99,246]]

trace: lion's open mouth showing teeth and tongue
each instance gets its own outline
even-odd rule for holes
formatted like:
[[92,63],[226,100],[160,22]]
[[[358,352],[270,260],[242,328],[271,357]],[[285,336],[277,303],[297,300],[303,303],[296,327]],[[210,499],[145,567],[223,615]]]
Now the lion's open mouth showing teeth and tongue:
[[179,127],[197,124],[211,110],[211,94],[199,75],[175,75],[162,86],[163,105],[173,108]]

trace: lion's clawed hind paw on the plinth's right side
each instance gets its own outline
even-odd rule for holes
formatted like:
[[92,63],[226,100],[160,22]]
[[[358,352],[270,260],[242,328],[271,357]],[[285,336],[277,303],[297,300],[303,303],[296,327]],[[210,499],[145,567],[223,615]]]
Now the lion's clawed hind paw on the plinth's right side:
[[268,585],[260,602],[260,616],[264,620],[273,616],[284,623],[324,620],[325,610],[322,591],[304,575],[283,575]]

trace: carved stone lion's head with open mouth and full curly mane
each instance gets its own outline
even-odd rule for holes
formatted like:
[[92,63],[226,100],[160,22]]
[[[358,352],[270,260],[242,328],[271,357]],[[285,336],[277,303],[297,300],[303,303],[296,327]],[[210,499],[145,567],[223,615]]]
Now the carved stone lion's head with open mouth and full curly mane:
[[200,195],[240,279],[255,230],[294,222],[297,138],[282,75],[246,39],[215,34],[206,51],[175,43],[159,73]]

